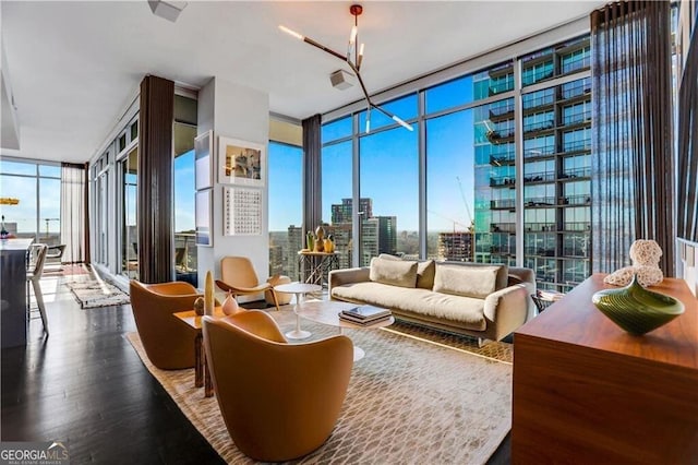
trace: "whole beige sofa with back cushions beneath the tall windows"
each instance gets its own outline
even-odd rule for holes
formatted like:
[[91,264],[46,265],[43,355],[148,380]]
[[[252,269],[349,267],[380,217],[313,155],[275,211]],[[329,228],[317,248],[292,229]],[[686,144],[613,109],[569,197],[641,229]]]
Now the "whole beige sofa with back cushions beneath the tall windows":
[[534,314],[530,269],[404,261],[382,254],[371,266],[329,273],[333,300],[388,308],[398,319],[501,341]]

